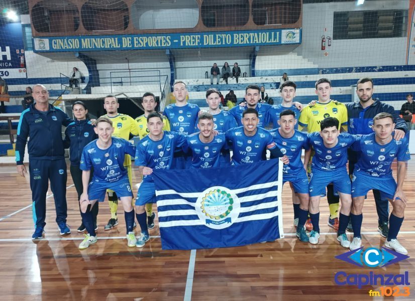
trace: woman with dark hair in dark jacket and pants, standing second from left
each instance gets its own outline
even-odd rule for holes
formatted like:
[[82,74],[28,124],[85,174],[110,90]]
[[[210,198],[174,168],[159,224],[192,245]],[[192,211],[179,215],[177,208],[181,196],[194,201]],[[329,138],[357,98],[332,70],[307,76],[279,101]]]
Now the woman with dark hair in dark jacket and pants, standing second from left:
[[[76,101],[72,105],[73,115],[75,121],[70,123],[65,130],[65,148],[69,147],[69,160],[70,160],[70,172],[75,185],[76,192],[78,194],[78,201],[83,192],[82,186],[82,170],[79,168],[82,150],[86,144],[95,140],[98,136],[94,131],[94,126],[91,124],[91,121],[88,120],[87,114],[88,110],[85,107],[85,104],[82,101]],[[92,178],[92,173],[91,173]],[[90,181],[91,179],[89,179]],[[95,231],[97,230],[96,226],[96,216],[98,215],[98,202],[91,209],[93,222],[95,226]],[[77,229],[78,232],[85,231],[85,226],[83,223]]]

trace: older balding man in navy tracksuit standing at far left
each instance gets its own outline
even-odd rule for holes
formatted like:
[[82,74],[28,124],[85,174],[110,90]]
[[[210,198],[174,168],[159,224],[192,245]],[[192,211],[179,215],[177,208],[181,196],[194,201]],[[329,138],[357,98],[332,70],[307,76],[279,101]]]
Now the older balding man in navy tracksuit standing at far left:
[[32,239],[43,237],[46,216],[46,193],[48,180],[55,199],[56,222],[60,234],[70,233],[66,225],[66,163],[62,140],[62,125],[73,122],[61,109],[49,104],[49,93],[43,85],[33,87],[35,103],[20,116],[16,140],[17,171],[24,177],[23,164],[28,136],[29,175],[32,189],[33,220],[35,233]]

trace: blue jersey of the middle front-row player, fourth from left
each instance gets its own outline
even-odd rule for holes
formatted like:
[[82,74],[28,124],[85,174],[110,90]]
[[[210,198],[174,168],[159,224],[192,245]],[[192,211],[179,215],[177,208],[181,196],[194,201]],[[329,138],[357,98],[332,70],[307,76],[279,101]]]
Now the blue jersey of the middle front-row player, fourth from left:
[[257,127],[253,136],[245,135],[243,126],[231,128],[226,132],[226,139],[232,143],[232,165],[259,162],[267,148],[277,147],[269,131],[262,127]]

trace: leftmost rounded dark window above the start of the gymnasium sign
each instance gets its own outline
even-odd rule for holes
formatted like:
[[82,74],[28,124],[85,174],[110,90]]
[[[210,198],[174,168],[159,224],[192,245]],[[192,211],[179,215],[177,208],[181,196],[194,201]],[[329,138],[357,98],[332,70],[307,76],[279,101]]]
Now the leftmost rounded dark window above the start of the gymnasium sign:
[[32,8],[32,24],[39,33],[74,32],[79,27],[79,12],[67,0],[44,0]]

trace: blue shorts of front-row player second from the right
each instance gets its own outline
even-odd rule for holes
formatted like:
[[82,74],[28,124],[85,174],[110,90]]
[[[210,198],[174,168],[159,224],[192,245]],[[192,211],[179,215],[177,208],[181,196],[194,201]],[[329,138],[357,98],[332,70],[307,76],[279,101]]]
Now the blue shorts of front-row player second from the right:
[[350,176],[346,169],[337,171],[312,171],[310,174],[309,194],[310,197],[325,196],[326,186],[334,185],[334,191],[338,193],[351,194],[352,187]]

